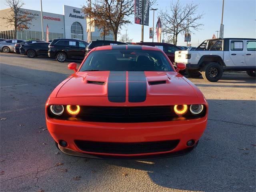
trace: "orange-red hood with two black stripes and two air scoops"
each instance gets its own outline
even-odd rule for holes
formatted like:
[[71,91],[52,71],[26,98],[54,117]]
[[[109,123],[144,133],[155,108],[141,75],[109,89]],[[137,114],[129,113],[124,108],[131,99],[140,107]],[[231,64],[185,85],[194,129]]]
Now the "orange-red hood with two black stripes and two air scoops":
[[56,97],[197,97],[194,85],[188,82],[176,72],[78,72],[63,84]]

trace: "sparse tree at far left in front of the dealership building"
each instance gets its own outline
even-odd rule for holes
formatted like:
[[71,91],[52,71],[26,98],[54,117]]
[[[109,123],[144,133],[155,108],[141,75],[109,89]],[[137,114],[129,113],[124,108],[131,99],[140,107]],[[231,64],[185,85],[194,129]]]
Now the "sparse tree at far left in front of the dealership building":
[[16,38],[17,30],[29,29],[34,16],[26,11],[21,12],[20,8],[25,4],[20,0],[6,0],[6,5],[11,8],[10,14],[1,19],[6,20],[6,27],[14,26],[14,36]]

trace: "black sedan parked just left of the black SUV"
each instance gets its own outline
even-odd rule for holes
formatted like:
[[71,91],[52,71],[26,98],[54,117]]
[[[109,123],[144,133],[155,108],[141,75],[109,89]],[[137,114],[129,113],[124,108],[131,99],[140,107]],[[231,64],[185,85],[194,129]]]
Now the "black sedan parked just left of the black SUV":
[[48,56],[48,42],[35,42],[31,44],[21,44],[20,54],[27,55],[30,58],[36,56]]

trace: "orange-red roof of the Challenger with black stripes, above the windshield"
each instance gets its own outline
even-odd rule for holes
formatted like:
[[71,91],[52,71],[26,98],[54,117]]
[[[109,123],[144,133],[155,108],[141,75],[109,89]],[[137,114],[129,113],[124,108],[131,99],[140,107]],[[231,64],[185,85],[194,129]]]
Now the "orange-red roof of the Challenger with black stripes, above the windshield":
[[155,50],[155,51],[162,52],[162,50],[160,50],[157,47],[146,46],[146,45],[106,45],[106,46],[95,47],[92,50],[98,51],[98,50],[112,50],[112,49]]

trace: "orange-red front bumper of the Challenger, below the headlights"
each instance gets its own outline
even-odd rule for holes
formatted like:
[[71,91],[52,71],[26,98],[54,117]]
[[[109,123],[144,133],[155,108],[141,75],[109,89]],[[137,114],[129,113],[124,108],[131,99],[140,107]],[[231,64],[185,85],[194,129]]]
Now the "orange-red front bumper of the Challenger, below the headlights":
[[[190,152],[195,146],[188,147],[188,140],[197,143],[202,136],[207,115],[192,120],[179,120],[169,122],[143,122],[143,123],[105,123],[105,122],[79,122],[56,120],[46,116],[47,128],[56,142],[64,140],[66,147],[59,146],[60,150],[73,156],[89,158],[157,158],[179,156]],[[74,140],[94,142],[154,142],[167,140],[180,140],[176,148],[164,152],[151,152],[143,154],[114,154],[82,151],[76,146]]]

